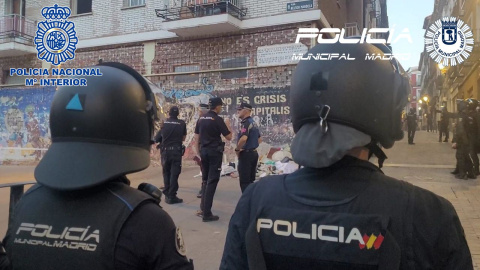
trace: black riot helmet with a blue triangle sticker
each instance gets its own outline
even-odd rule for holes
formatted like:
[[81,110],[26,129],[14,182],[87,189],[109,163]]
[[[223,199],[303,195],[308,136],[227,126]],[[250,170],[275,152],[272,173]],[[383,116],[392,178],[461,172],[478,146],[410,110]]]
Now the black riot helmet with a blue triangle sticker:
[[147,81],[120,63],[103,63],[87,86],[61,86],[50,108],[52,145],[36,180],[58,190],[97,186],[150,165],[156,116]]

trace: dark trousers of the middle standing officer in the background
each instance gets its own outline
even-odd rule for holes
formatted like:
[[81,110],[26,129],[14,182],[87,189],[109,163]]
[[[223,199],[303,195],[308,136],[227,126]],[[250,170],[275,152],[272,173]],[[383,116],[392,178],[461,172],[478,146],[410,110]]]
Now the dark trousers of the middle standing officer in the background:
[[217,184],[220,180],[220,173],[222,172],[222,157],[223,152],[216,149],[202,148],[200,151],[202,158],[202,200],[200,202],[200,209],[203,211],[203,216],[212,215],[212,204]]

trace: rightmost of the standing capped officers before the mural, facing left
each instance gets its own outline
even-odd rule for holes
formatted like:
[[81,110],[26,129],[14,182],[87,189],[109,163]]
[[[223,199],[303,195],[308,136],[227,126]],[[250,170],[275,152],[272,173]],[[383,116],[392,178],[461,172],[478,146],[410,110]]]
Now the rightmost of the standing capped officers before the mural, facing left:
[[241,103],[237,108],[237,114],[242,122],[237,136],[238,175],[242,193],[255,181],[257,173],[258,153],[257,147],[261,142],[260,130],[250,116],[252,105]]

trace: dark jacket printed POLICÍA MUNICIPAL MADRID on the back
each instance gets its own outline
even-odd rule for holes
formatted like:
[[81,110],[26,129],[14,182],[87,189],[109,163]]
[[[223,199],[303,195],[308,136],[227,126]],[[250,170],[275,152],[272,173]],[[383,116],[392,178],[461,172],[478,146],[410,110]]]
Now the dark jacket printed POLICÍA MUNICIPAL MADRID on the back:
[[120,181],[82,191],[29,189],[3,241],[13,269],[193,269],[153,198]]

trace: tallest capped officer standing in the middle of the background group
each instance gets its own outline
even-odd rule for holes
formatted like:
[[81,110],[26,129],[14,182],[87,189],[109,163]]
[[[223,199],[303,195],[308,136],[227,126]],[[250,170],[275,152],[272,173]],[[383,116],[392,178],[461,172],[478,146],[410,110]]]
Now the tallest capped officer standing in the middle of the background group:
[[197,215],[202,217],[204,222],[217,221],[218,216],[212,213],[213,197],[217,190],[217,184],[222,172],[222,158],[225,150],[225,143],[222,142],[220,135],[230,141],[232,132],[230,131],[230,121],[223,121],[218,116],[222,111],[223,101],[219,97],[211,98],[208,102],[210,111],[198,119],[195,126],[195,141],[197,149],[200,149],[202,159],[202,200],[200,211]]

